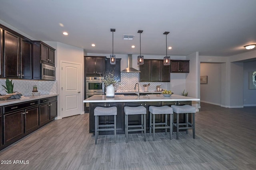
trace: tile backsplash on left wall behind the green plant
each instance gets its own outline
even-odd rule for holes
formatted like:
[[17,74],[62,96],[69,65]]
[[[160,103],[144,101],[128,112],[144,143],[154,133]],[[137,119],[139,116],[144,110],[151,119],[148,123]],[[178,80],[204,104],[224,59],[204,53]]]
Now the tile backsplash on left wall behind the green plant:
[[[12,79],[9,79],[12,80]],[[6,79],[0,79],[0,94],[6,94],[4,89]],[[14,83],[14,91],[21,93],[23,96],[31,95],[33,86],[37,86],[40,94],[57,94],[57,81],[42,81],[42,80],[12,80]]]

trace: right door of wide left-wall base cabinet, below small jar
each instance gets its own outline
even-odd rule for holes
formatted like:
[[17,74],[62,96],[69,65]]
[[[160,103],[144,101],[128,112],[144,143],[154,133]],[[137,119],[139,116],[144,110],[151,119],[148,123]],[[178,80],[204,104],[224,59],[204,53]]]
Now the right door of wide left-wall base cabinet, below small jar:
[[39,128],[39,107],[25,109],[25,133],[30,133]]

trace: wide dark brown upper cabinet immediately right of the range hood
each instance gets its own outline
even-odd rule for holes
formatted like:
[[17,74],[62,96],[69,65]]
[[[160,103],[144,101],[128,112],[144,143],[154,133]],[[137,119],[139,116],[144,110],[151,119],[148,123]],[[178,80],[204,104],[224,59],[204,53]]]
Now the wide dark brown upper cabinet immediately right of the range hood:
[[144,59],[140,65],[140,82],[170,82],[170,65],[163,60]]

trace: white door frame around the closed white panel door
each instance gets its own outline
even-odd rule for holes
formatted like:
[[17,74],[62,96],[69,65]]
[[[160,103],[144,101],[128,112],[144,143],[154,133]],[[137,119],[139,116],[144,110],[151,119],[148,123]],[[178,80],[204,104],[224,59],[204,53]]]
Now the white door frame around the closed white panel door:
[[80,71],[81,71],[81,95],[80,95],[80,104],[81,104],[81,110],[80,110],[80,114],[84,114],[84,111],[83,111],[83,96],[84,96],[84,89],[83,89],[83,72],[82,72],[82,64],[81,63],[75,63],[75,62],[71,62],[71,61],[64,61],[64,60],[61,60],[60,61],[60,96],[59,96],[59,99],[60,99],[60,119],[62,119],[62,89],[61,89],[61,87],[62,87],[62,63],[68,63],[68,64],[77,64],[77,65],[80,65]]

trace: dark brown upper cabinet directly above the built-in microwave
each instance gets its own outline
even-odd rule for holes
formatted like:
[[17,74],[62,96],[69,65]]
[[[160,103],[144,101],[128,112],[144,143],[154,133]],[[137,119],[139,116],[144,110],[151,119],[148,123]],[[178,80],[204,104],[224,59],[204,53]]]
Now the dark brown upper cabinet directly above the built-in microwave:
[[32,41],[32,43],[33,59],[36,60],[37,63],[55,66],[55,49],[42,41]]

